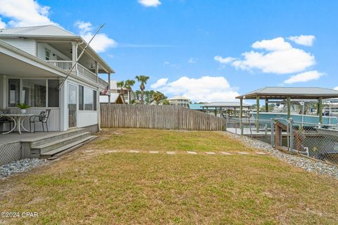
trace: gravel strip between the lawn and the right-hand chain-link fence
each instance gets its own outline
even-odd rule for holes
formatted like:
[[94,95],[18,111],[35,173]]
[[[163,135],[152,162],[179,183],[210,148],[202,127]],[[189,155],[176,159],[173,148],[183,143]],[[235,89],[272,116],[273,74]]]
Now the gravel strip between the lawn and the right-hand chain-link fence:
[[319,160],[311,160],[297,155],[283,153],[282,151],[271,147],[271,145],[268,143],[258,141],[256,139],[251,139],[247,136],[232,134],[230,132],[225,132],[225,134],[232,136],[234,139],[239,139],[240,141],[245,143],[246,146],[265,150],[268,153],[270,153],[270,155],[273,155],[275,158],[279,158],[280,160],[288,162],[291,165],[305,169],[308,172],[315,172],[317,174],[326,174],[329,176],[333,176],[335,179],[338,179],[337,166],[328,165],[325,162],[320,162]]

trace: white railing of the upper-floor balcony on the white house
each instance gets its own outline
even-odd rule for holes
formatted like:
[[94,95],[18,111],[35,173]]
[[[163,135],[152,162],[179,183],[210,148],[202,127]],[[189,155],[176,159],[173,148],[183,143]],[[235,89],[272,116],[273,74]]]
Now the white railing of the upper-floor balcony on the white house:
[[[55,65],[58,68],[61,68],[63,70],[69,71],[72,68],[72,61],[65,61],[65,60],[46,60],[47,63],[50,63],[51,65]],[[104,79],[101,79],[100,77],[97,77],[94,72],[88,70],[87,68],[84,68],[83,65],[80,63],[77,63],[77,72],[79,76],[86,77],[94,82],[97,82],[103,86],[108,86],[108,82],[106,82]]]

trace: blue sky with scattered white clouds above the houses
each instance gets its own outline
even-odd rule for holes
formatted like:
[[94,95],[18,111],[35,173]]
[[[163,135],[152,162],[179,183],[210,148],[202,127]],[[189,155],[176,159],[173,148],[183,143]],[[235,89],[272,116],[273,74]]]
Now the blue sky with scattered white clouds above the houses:
[[263,86],[338,86],[338,1],[0,0],[0,6],[0,28],[54,24],[88,40],[106,23],[92,47],[115,70],[112,79],[148,75],[146,89],[169,97],[234,101]]

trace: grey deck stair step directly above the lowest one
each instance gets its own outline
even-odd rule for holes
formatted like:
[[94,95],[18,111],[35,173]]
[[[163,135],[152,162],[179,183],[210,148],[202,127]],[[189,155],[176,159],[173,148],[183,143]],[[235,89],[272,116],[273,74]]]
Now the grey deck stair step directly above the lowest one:
[[61,148],[62,146],[66,146],[75,141],[79,141],[81,139],[87,138],[88,136],[90,136],[90,132],[82,131],[80,134],[75,134],[75,135],[68,136],[63,139],[58,139],[56,141],[51,141],[51,142],[45,142],[42,145],[34,146],[31,148],[31,150],[39,150],[40,154],[42,154],[42,153],[46,153],[51,150],[54,150],[56,148]]

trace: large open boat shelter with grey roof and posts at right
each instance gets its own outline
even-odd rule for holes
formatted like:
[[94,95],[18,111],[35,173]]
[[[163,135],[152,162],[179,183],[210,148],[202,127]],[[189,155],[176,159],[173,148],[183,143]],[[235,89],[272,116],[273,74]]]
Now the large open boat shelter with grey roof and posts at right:
[[[279,87],[268,86],[261,89],[251,91],[242,96],[237,96],[239,99],[239,117],[242,118],[243,114],[243,99],[256,99],[257,116],[259,120],[259,101],[265,100],[265,112],[268,112],[269,99],[273,100],[286,100],[287,101],[287,118],[291,117],[291,99],[316,99],[318,101],[317,114],[319,116],[320,124],[323,123],[323,99],[338,98],[338,91],[334,89],[325,89],[320,87]],[[257,123],[258,127],[259,124]],[[258,129],[258,128],[257,128]]]

